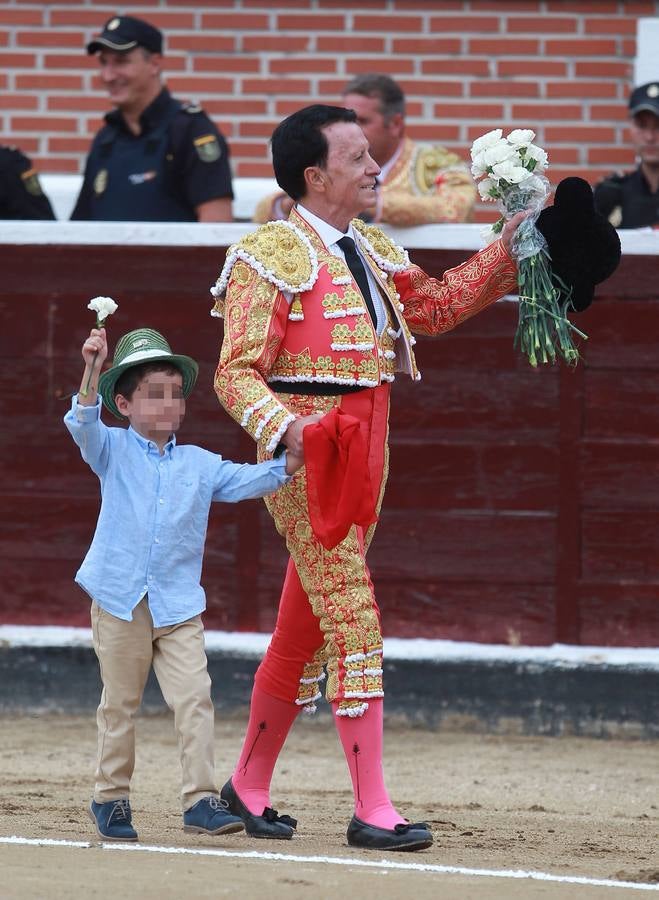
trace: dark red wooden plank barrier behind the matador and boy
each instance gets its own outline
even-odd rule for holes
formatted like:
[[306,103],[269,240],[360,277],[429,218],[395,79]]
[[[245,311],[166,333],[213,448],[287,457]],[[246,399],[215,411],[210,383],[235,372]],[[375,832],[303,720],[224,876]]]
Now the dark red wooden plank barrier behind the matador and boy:
[[[151,325],[201,364],[181,440],[254,448],[217,404],[224,249],[4,246],[0,314],[0,621],[88,624],[73,576],[98,486],[62,424],[90,297],[120,304],[111,343]],[[412,251],[437,273],[461,251]],[[385,633],[484,642],[659,644],[656,257],[625,256],[579,324],[576,370],[512,349],[516,306],[419,339],[423,380],[393,394],[391,473],[370,564]],[[108,419],[108,421],[110,421]],[[269,631],[285,553],[260,501],[215,505],[206,625]]]

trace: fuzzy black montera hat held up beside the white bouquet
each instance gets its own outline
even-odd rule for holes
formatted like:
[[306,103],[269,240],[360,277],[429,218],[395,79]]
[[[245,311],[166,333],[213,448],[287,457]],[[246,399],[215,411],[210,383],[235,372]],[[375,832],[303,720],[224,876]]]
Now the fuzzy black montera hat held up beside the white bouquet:
[[618,267],[618,233],[595,211],[593,190],[583,178],[559,183],[554,205],[542,210],[536,227],[547,241],[552,270],[572,288],[572,306],[581,312],[593,302],[595,285]]

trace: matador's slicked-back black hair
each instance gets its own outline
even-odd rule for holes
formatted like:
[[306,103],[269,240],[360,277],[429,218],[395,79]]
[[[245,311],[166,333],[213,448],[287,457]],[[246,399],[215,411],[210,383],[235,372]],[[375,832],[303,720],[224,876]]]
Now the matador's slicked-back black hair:
[[356,122],[352,109],[316,103],[299,109],[275,128],[270,139],[277,184],[293,200],[306,194],[304,170],[324,166],[329,147],[323,128],[334,122]]

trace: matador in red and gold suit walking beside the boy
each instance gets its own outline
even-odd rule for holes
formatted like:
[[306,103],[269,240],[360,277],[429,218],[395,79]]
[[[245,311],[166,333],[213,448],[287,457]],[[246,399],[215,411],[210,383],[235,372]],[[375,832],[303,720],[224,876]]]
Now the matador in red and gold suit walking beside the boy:
[[[356,218],[379,167],[351,110],[317,105],[294,113],[275,130],[272,150],[278,181],[297,205],[287,221],[229,248],[212,289],[213,312],[224,317],[215,389],[262,460],[281,444],[299,444],[311,416],[340,406],[356,417],[379,509],[392,383],[398,375],[421,378],[414,334],[448,331],[515,289],[512,232],[441,280],[431,278],[383,231]],[[270,780],[297,713],[314,708],[327,677],[355,796],[348,842],[427,847],[427,825],[395,810],[382,775],[382,628],[366,563],[374,526],[354,526],[326,549],[311,527],[304,469],[266,505],[290,558],[243,750],[222,796],[248,834],[293,835],[295,820],[270,806]]]

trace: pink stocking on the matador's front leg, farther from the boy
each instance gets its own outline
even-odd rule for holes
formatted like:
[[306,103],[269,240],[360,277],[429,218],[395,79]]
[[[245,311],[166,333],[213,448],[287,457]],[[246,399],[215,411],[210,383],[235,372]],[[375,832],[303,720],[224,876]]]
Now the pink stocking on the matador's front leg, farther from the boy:
[[355,815],[362,822],[392,829],[407,820],[391,805],[382,772],[382,700],[369,699],[362,716],[338,716],[332,703],[334,723],[348,761],[355,792]]

